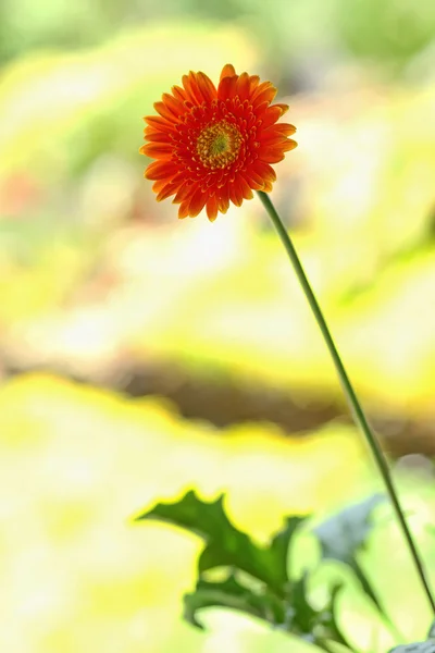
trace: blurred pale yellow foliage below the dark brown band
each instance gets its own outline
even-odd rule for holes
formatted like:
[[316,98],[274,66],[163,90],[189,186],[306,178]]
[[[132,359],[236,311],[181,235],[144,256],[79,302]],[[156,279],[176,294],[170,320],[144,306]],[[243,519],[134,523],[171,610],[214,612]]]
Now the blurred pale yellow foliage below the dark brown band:
[[[223,435],[152,398],[126,401],[39,374],[3,385],[2,648],[157,653],[226,641],[251,650],[259,628],[249,621],[229,616],[223,632],[217,621],[207,645],[181,624],[200,543],[133,527],[128,516],[194,485],[204,497],[227,492],[233,522],[265,541],[285,513],[337,505],[345,488],[350,495],[370,481],[345,428],[303,441],[253,424]],[[274,639],[260,632],[263,651]]]

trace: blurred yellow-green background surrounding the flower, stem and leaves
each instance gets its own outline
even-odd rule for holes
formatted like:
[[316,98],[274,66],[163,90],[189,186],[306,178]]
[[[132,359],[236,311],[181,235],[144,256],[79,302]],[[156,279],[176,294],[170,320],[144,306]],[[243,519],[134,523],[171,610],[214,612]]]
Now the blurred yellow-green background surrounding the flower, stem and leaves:
[[142,178],[141,116],[227,62],[290,104],[273,199],[414,527],[433,520],[435,3],[1,0],[4,651],[296,650],[223,611],[184,624],[201,543],[132,518],[225,491],[264,540],[377,486],[260,202],[178,221]]

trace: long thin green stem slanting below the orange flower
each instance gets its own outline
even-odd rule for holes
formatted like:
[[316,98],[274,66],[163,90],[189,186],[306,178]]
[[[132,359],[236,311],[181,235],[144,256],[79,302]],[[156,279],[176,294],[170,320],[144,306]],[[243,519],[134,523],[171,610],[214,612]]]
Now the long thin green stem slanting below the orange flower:
[[319,324],[319,328],[322,332],[323,338],[325,341],[326,347],[331,354],[331,357],[334,361],[335,365],[335,369],[337,370],[338,373],[338,378],[340,380],[341,383],[341,387],[343,391],[346,395],[346,398],[348,401],[350,410],[353,415],[353,419],[356,421],[356,423],[359,426],[359,428],[361,429],[366,442],[369,443],[369,446],[372,451],[372,454],[374,456],[374,459],[376,461],[377,468],[380,470],[380,473],[383,478],[383,481],[385,483],[385,488],[387,490],[388,496],[390,498],[390,502],[393,504],[393,508],[395,510],[396,517],[398,519],[398,522],[400,525],[400,528],[402,530],[405,540],[408,544],[410,554],[412,556],[412,559],[414,562],[415,565],[415,569],[417,572],[420,577],[421,583],[423,586],[424,592],[427,596],[427,600],[431,604],[431,608],[435,615],[435,602],[434,602],[434,597],[432,595],[431,592],[431,588],[428,586],[428,580],[427,580],[427,576],[426,572],[424,570],[424,566],[423,563],[420,558],[419,552],[417,550],[417,546],[414,544],[414,541],[412,539],[411,532],[409,530],[409,527],[407,525],[407,521],[405,519],[405,515],[403,515],[403,510],[400,507],[400,503],[399,503],[399,498],[397,495],[397,492],[395,490],[395,486],[393,484],[393,479],[391,479],[391,475],[389,472],[389,468],[388,468],[388,464],[386,461],[386,458],[382,452],[382,448],[372,431],[372,429],[369,426],[369,422],[366,420],[366,417],[364,415],[364,411],[359,403],[359,399],[357,397],[357,394],[352,387],[352,384],[350,382],[350,379],[346,372],[345,366],[343,365],[341,358],[338,354],[338,349],[334,343],[333,336],[331,335],[330,329],[326,324],[326,320],[323,317],[322,310],[319,306],[319,303],[315,298],[315,295],[310,286],[310,283],[307,279],[307,275],[303,271],[302,264],[299,260],[299,257],[296,252],[296,249],[291,243],[291,239],[287,233],[287,231],[285,230],[279,215],[277,214],[269,195],[266,193],[262,193],[262,192],[258,192],[258,195],[265,208],[265,210],[269,213],[269,217],[271,218],[276,231],[278,232],[279,238],[287,251],[288,258],[290,259],[293,267],[295,269],[296,275],[299,280],[300,285],[302,286],[302,291],[307,297],[307,300],[310,305],[310,308],[314,315],[314,318]]

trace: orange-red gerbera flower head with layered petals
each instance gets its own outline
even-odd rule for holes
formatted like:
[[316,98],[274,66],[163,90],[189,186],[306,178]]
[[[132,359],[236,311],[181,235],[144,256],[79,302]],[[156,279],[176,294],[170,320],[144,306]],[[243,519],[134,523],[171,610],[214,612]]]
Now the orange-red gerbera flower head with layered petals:
[[178,218],[194,218],[206,207],[209,220],[239,207],[252,190],[272,189],[271,163],[284,159],[296,141],[289,124],[276,124],[287,104],[271,104],[276,88],[257,75],[237,75],[226,64],[215,88],[204,73],[183,76],[154,103],[160,115],[145,118],[140,152],[157,159],[145,177],[153,180],[158,201],[175,195]]

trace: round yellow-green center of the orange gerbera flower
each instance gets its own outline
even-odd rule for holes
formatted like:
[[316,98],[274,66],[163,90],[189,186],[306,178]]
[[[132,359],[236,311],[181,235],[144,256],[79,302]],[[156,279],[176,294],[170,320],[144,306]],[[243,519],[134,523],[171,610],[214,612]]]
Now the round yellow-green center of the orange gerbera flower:
[[226,168],[236,160],[241,140],[237,127],[225,120],[204,127],[197,140],[201,163],[212,170]]

